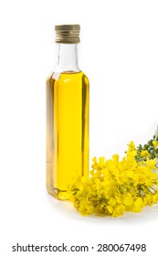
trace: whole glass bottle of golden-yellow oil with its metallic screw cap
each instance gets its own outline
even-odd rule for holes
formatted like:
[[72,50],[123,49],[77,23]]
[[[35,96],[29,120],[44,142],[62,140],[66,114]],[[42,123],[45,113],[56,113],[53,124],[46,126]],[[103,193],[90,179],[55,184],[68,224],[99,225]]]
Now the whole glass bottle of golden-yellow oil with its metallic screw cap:
[[89,80],[78,66],[79,25],[55,27],[57,66],[47,79],[47,192],[67,199],[89,171]]

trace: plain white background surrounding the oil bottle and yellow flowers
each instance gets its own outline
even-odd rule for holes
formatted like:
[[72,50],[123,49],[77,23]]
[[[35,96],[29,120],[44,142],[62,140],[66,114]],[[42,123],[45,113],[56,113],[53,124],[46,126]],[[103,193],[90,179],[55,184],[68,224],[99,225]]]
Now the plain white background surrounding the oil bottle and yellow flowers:
[[[157,14],[153,0],[0,2],[1,255],[24,255],[11,251],[16,242],[146,243],[147,252],[136,255],[156,254],[157,206],[118,219],[83,218],[47,195],[45,80],[55,65],[54,26],[80,24],[79,64],[90,79],[90,159],[123,155],[130,140],[145,143],[158,124]],[[76,253],[97,254],[106,253]],[[106,255],[115,254],[122,252]]]

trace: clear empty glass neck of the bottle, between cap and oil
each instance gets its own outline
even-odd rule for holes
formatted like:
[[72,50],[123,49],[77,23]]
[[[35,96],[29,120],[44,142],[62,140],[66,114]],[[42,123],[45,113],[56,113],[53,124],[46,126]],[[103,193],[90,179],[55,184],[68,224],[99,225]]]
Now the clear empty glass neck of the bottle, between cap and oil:
[[78,44],[57,44],[56,72],[79,72]]

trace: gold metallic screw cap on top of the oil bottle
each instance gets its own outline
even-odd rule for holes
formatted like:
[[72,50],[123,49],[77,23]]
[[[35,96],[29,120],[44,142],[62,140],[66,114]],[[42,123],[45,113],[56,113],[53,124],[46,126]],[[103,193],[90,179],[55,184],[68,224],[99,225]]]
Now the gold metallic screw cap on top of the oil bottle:
[[57,25],[56,43],[61,44],[78,44],[80,42],[79,31],[80,26],[77,25]]

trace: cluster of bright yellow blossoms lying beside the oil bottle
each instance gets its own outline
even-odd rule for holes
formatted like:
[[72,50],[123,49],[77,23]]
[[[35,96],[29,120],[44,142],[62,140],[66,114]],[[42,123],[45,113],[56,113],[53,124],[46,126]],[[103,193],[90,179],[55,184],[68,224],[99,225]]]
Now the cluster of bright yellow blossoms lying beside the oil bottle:
[[[92,159],[90,177],[74,177],[68,189],[74,207],[83,215],[100,214],[118,217],[126,211],[140,212],[158,202],[156,160],[137,162],[135,145],[128,145],[126,155],[105,160]],[[148,156],[146,152],[143,153]]]

